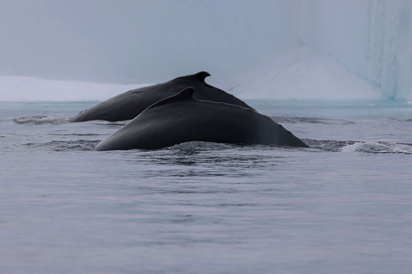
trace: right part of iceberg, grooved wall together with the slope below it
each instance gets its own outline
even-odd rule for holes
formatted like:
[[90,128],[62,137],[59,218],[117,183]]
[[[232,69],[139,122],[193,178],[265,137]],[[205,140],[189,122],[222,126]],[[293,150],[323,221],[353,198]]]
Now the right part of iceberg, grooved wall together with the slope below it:
[[246,98],[412,99],[412,1],[301,0],[296,16],[301,46],[229,89]]

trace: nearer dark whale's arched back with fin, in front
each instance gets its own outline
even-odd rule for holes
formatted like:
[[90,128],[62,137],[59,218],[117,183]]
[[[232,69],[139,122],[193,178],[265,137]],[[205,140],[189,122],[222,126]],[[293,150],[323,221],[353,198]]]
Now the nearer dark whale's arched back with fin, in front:
[[204,141],[308,147],[268,116],[250,108],[194,98],[194,88],[163,99],[96,145],[96,151],[161,149]]

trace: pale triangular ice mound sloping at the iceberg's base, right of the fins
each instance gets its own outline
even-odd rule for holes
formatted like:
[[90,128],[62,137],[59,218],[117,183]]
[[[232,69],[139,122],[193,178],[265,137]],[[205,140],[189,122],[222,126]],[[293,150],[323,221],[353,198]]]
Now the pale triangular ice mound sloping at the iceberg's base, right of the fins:
[[244,99],[382,99],[376,86],[330,53],[308,46],[291,49],[225,88]]

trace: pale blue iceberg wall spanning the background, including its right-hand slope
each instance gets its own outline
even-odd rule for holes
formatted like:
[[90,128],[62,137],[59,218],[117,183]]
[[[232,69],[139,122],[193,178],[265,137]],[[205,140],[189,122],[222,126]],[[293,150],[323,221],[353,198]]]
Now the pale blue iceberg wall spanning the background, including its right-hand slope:
[[245,97],[412,101],[410,0],[15,0],[0,23],[3,75],[146,83],[205,70]]

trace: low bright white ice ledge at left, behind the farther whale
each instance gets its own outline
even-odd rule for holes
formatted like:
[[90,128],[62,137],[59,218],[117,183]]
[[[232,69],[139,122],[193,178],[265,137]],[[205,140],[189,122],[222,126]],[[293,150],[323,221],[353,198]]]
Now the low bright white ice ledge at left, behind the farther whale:
[[1,101],[102,101],[147,84],[120,85],[0,76]]

